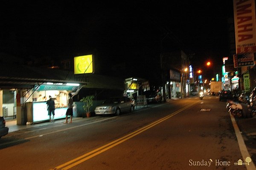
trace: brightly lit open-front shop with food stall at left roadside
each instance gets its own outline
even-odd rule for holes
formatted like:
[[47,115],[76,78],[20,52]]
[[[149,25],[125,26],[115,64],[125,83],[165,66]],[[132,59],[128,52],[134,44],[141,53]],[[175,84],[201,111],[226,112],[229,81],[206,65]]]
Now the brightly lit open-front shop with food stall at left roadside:
[[[84,83],[73,84],[64,81],[63,83],[35,83],[26,78],[19,82],[13,81],[12,84],[1,84],[0,116],[13,119],[18,125],[48,121],[46,102],[50,95],[55,101],[55,119],[65,118],[68,93],[77,94],[83,85]],[[77,115],[76,106],[73,107],[73,115]]]

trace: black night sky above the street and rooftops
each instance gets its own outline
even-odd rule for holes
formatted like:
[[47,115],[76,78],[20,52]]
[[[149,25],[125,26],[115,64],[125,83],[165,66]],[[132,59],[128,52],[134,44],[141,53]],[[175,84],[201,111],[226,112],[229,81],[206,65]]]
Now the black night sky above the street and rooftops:
[[0,52],[19,58],[97,54],[100,73],[146,76],[163,51],[183,49],[191,63],[229,54],[232,0],[4,1]]

